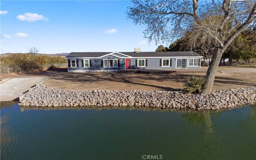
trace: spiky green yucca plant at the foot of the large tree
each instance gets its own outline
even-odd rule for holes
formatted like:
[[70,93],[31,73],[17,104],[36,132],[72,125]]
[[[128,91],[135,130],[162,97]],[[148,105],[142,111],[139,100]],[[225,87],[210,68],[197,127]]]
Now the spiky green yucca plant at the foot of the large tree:
[[204,89],[205,79],[203,76],[192,76],[183,84],[188,93],[201,93]]

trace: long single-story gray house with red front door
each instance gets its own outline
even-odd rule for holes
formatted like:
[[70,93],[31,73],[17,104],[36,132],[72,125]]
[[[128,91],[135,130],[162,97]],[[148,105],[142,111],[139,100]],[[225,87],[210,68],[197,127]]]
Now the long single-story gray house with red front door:
[[196,52],[71,52],[65,57],[68,72],[119,71],[120,69],[201,68]]

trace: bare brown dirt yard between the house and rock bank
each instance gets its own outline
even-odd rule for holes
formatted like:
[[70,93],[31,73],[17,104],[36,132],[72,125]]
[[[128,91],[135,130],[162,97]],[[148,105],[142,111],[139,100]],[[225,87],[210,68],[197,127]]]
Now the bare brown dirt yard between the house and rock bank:
[[[207,69],[206,67],[202,68]],[[60,89],[178,91],[183,88],[183,82],[189,76],[192,76],[185,74],[147,75],[120,72],[68,73],[64,71],[65,69],[38,71],[13,74],[11,77],[52,76],[44,84]],[[256,85],[256,68],[220,66],[215,77],[213,90],[242,88],[250,85]]]

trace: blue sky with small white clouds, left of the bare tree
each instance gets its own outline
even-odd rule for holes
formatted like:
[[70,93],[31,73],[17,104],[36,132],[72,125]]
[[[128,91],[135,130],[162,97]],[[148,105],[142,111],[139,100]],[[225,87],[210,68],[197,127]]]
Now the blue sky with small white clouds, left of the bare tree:
[[[155,51],[143,26],[126,19],[130,1],[1,1],[1,53]],[[5,11],[5,12],[4,12]],[[36,14],[32,14],[36,13]],[[160,45],[160,44],[159,44]]]

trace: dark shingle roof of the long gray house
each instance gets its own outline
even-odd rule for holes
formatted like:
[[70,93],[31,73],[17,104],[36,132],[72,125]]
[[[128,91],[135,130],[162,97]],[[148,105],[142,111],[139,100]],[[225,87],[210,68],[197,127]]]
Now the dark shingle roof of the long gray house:
[[[75,57],[100,57],[112,52],[71,52],[67,58]],[[184,52],[119,52],[131,57],[197,57],[201,56],[196,52],[184,51]]]

